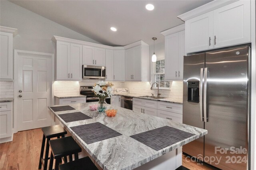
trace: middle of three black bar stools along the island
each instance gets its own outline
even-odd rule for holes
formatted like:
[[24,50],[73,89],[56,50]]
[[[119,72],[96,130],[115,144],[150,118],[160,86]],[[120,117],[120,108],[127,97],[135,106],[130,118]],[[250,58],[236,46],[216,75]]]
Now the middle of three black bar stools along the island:
[[78,153],[82,152],[82,149],[71,137],[64,137],[60,139],[54,139],[49,141],[50,148],[52,150],[50,157],[49,170],[52,170],[53,160],[55,159],[54,170],[59,169],[59,164],[62,162],[61,158],[64,157],[64,162],[67,163],[66,156],[69,156],[69,162],[71,162],[72,155],[74,154],[75,160],[78,160]]

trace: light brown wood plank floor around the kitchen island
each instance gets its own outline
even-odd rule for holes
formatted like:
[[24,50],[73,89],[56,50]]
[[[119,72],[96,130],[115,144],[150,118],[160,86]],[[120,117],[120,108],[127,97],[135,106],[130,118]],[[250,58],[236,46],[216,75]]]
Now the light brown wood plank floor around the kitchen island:
[[[20,131],[14,134],[12,142],[1,143],[0,170],[38,170],[42,135],[41,129]],[[185,155],[182,156],[182,165],[190,170],[212,169],[186,159]]]

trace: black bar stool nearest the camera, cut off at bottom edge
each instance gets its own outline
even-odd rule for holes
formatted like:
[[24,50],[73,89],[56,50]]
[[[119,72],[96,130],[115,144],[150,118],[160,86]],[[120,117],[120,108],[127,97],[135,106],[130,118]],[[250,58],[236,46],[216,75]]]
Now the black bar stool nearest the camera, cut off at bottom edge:
[[59,166],[60,170],[98,170],[92,160],[86,156]]

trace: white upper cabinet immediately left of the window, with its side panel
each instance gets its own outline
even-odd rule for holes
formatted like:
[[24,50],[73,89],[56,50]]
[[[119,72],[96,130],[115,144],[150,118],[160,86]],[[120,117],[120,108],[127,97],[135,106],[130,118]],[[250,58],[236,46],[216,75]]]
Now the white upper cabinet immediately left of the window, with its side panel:
[[149,47],[138,45],[125,52],[126,81],[149,80]]

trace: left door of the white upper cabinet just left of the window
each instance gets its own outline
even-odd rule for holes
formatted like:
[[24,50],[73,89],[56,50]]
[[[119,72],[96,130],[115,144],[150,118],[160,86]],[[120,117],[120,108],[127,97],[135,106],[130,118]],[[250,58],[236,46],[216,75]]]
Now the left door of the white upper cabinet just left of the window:
[[125,51],[125,69],[125,80],[132,80],[132,74],[134,71],[134,48],[130,48]]

